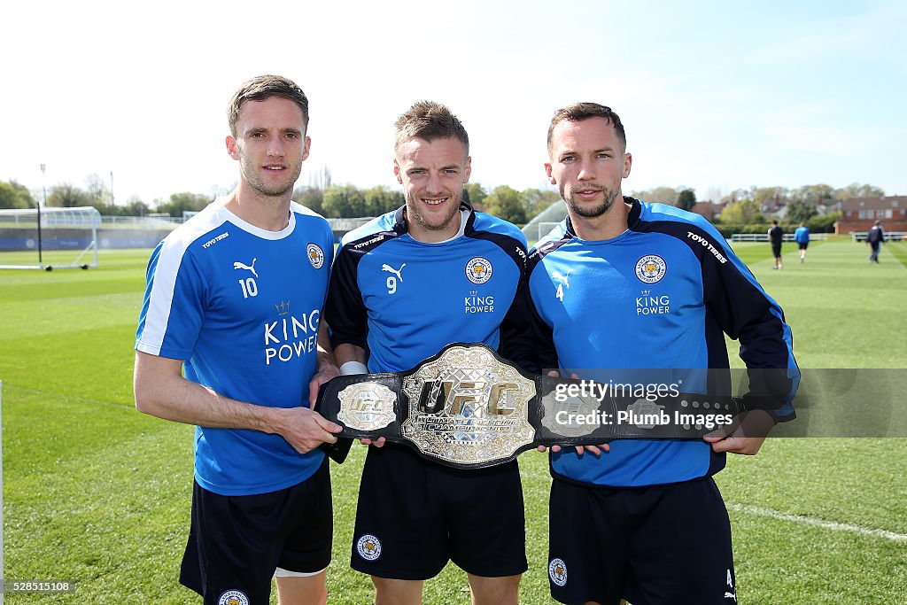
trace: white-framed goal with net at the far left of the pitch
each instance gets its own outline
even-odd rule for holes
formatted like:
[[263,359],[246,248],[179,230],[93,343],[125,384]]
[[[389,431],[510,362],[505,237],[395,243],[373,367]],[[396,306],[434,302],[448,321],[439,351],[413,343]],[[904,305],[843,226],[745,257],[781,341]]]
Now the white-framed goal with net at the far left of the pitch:
[[0,210],[0,268],[97,267],[100,227],[91,206]]

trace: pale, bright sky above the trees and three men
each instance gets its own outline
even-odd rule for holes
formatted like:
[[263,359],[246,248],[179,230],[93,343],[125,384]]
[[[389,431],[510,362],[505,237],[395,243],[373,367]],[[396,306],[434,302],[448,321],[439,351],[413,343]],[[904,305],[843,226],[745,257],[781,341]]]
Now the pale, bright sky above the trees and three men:
[[35,190],[41,163],[48,187],[112,172],[119,201],[227,190],[229,96],[280,73],[311,102],[307,170],[337,183],[395,187],[392,124],[432,99],[473,181],[540,187],[551,114],[596,101],[627,129],[625,191],[907,194],[900,1],[25,4],[3,9],[0,180]]

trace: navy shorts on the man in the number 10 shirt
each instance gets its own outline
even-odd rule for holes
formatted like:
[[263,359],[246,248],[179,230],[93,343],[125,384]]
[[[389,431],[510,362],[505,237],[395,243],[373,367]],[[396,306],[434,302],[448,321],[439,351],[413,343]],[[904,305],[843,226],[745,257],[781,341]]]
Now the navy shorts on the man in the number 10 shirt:
[[223,496],[195,483],[180,583],[206,605],[235,593],[267,603],[276,568],[327,567],[333,523],[327,458],[306,481],[277,492]]

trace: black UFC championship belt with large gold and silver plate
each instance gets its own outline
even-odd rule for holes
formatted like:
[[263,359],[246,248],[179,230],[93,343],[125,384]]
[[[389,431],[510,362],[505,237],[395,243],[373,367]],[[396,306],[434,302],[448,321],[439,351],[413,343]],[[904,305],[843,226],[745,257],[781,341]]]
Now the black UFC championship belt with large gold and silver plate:
[[352,439],[407,444],[455,468],[502,464],[536,445],[701,439],[744,411],[714,395],[583,393],[580,381],[523,373],[491,347],[453,343],[408,372],[337,376],[316,410],[343,426],[322,449],[338,463]]

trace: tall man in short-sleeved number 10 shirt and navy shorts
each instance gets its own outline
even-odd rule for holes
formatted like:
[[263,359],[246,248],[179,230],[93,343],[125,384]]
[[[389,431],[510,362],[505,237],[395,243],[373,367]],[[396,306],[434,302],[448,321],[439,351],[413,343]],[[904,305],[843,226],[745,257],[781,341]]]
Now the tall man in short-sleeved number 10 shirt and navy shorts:
[[205,603],[248,605],[268,602],[276,576],[281,603],[324,603],[331,488],[316,448],[341,427],[310,409],[337,368],[319,321],[333,233],[290,200],[310,146],[308,100],[286,78],[259,76],[228,116],[236,189],[148,263],[135,405],[196,425],[180,582]]

